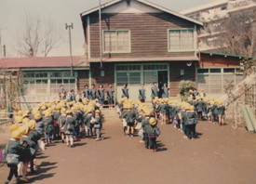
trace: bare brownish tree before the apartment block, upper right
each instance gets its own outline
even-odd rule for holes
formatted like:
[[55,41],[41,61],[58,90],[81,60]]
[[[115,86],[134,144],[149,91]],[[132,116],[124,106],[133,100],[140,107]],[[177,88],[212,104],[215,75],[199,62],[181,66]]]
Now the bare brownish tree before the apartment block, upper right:
[[211,20],[213,46],[218,53],[256,56],[256,14],[254,10],[240,10],[225,19]]

